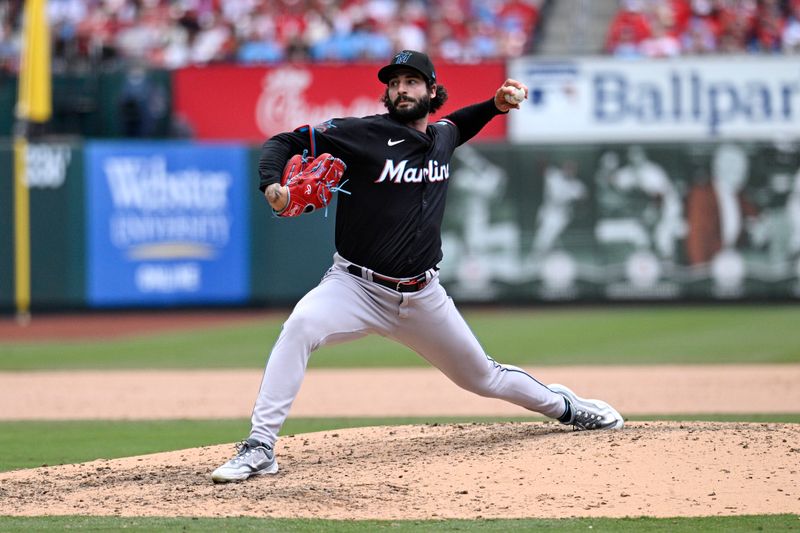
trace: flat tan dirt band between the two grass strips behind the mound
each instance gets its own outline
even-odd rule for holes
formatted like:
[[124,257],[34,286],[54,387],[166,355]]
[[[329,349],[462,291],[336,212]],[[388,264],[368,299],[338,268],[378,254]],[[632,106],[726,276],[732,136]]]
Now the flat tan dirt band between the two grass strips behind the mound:
[[[800,365],[528,368],[624,415],[800,413]],[[0,420],[247,418],[261,370],[0,372]],[[431,368],[310,370],[293,417],[529,416]]]

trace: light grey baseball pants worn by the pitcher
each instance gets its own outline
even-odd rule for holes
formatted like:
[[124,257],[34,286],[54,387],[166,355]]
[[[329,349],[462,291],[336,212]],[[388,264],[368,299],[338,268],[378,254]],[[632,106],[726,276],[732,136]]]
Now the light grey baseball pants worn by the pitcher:
[[466,390],[551,418],[564,414],[561,395],[486,354],[439,284],[438,273],[429,271],[431,281],[422,290],[400,293],[348,273],[348,264],[335,254],[320,284],[284,323],[264,369],[251,438],[275,443],[300,391],[311,352],[370,333],[408,346]]

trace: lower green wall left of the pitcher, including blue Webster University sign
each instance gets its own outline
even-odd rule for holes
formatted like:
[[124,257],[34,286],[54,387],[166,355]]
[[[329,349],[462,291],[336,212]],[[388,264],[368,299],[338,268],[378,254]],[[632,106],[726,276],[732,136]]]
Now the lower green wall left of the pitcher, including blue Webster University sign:
[[[257,189],[259,153],[184,141],[30,145],[32,308],[296,301],[333,254],[333,213],[273,217]],[[9,144],[0,144],[0,169],[13,175]],[[0,180],[0,309],[13,308],[7,179]]]

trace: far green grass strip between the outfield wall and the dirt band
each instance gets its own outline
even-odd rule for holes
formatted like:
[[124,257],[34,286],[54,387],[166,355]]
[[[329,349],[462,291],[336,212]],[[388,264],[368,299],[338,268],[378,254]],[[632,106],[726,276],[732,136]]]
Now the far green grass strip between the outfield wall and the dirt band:
[[[800,361],[800,306],[471,310],[465,318],[490,355],[516,365]],[[0,370],[262,368],[282,320],[106,341],[0,341]],[[324,347],[310,363],[425,365],[377,336]]]

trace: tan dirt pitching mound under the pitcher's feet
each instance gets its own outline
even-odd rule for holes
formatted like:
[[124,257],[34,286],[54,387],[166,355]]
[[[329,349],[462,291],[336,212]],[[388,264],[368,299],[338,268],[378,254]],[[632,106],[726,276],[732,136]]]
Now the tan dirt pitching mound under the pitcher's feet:
[[214,485],[230,445],[0,474],[0,515],[347,519],[800,512],[791,424],[374,427],[283,438],[275,476]]

